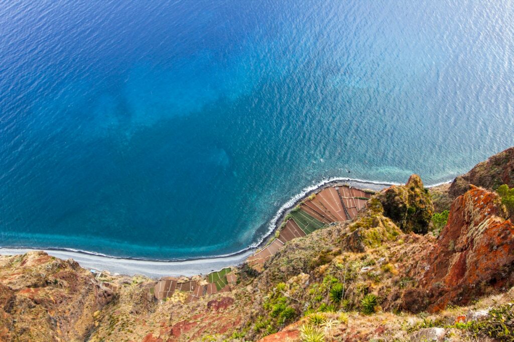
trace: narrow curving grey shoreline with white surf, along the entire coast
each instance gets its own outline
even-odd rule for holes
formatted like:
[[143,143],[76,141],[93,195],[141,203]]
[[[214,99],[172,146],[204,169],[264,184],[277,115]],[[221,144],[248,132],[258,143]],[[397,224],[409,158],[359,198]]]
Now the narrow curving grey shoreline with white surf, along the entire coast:
[[[440,182],[427,186],[427,188],[436,187],[443,184],[451,183]],[[295,208],[305,197],[319,192],[320,190],[337,185],[350,185],[359,189],[379,191],[391,185],[399,185],[393,182],[378,182],[373,180],[364,180],[348,177],[332,177],[324,178],[317,184],[304,188],[300,193],[292,196],[284,205],[282,205],[277,213],[271,218],[268,224],[268,230],[259,238],[259,242],[229,254],[214,255],[197,258],[185,258],[177,260],[159,260],[145,259],[137,257],[119,257],[114,255],[106,255],[91,251],[75,250],[71,248],[35,248],[35,247],[0,247],[0,255],[23,254],[28,251],[45,251],[49,255],[67,259],[75,259],[82,267],[96,271],[109,271],[115,274],[135,275],[142,274],[152,278],[161,276],[193,276],[197,274],[207,274],[213,270],[221,269],[226,266],[237,266],[242,264],[248,256],[253,254],[254,250],[261,248],[267,244],[269,239],[279,229],[284,217],[293,208]]]

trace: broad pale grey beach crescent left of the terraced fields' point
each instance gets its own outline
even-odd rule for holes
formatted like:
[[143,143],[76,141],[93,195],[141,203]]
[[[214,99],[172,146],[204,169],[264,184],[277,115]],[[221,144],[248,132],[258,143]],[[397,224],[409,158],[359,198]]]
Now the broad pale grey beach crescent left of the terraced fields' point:
[[15,255],[29,251],[43,250],[60,259],[72,258],[80,266],[96,271],[109,271],[112,274],[142,274],[151,278],[162,276],[193,276],[208,274],[227,266],[237,266],[250,256],[253,251],[217,258],[192,259],[182,261],[154,261],[141,259],[111,258],[100,255],[85,254],[67,250],[45,250],[28,248],[0,248],[0,254]]

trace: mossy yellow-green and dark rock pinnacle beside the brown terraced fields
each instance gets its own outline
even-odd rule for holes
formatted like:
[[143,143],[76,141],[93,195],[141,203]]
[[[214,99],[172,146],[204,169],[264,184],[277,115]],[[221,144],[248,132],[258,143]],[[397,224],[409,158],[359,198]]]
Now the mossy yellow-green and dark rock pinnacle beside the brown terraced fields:
[[426,234],[434,205],[421,178],[413,174],[406,185],[392,186],[378,195],[384,215],[406,233]]

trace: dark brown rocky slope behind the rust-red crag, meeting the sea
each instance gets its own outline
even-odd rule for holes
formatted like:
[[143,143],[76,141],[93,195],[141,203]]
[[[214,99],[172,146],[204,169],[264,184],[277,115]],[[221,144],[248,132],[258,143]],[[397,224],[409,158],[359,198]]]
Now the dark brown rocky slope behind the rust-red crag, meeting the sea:
[[502,184],[514,187],[514,147],[493,155],[485,162],[475,165],[468,173],[458,176],[450,186],[452,198],[469,190],[469,185],[493,190]]

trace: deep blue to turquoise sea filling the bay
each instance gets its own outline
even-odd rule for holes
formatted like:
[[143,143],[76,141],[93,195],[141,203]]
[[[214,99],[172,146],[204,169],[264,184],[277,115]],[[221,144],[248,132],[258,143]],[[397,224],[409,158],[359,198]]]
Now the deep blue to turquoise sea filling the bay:
[[513,58],[509,2],[0,1],[0,246],[225,254],[324,177],[449,180],[514,145]]

